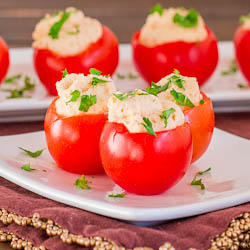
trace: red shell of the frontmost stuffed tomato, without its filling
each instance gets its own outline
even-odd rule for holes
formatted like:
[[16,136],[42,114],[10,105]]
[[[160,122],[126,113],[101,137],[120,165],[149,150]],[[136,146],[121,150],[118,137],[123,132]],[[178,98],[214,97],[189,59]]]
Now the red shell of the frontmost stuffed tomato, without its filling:
[[107,175],[128,192],[160,194],[185,174],[192,157],[192,136],[185,123],[173,130],[129,133],[123,124],[107,122],[100,154]]

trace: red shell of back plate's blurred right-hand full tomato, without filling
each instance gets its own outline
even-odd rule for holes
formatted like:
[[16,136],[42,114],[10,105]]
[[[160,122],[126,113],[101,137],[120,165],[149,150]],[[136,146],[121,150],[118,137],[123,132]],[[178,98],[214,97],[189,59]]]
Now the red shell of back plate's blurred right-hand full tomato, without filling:
[[208,36],[197,43],[171,42],[153,48],[139,42],[140,31],[132,39],[133,58],[141,76],[149,83],[158,82],[178,69],[184,76],[194,76],[201,86],[214,72],[218,62],[215,35],[206,27]]

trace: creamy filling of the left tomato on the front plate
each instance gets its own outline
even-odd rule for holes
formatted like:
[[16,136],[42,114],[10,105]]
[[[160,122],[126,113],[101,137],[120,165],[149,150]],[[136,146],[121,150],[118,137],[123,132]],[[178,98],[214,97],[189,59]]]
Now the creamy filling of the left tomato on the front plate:
[[108,99],[116,91],[110,77],[68,74],[56,83],[56,111],[64,117],[108,112]]

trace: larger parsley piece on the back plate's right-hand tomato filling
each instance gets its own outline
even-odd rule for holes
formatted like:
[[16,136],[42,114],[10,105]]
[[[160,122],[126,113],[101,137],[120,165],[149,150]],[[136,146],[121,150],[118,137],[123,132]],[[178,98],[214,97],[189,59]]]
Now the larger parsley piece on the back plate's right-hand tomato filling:
[[174,15],[173,21],[181,27],[190,28],[195,27],[198,24],[199,13],[194,9],[190,9],[186,16],[182,16],[179,13]]

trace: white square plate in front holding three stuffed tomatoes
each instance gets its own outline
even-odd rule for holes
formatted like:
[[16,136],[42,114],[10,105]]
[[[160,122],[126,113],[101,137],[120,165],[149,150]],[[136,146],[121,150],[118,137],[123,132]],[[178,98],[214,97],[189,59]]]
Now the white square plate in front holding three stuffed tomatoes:
[[[104,174],[87,176],[92,189],[78,190],[74,182],[79,175],[57,168],[48,150],[33,159],[18,147],[46,148],[44,132],[0,137],[0,176],[50,199],[121,220],[155,223],[250,201],[250,141],[219,129],[215,129],[206,154],[189,167],[184,178],[156,196],[108,198],[109,192],[119,188]],[[37,170],[22,170],[26,163]],[[211,172],[202,176],[206,189],[191,186],[196,172],[209,167]]]

